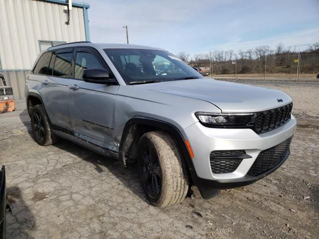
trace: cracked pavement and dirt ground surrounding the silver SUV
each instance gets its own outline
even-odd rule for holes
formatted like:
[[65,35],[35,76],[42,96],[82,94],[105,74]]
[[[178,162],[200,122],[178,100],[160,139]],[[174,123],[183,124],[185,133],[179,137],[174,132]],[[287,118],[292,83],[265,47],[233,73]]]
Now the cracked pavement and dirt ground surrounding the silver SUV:
[[255,184],[210,200],[195,190],[194,199],[164,209],[148,203],[134,165],[123,169],[65,140],[39,146],[23,104],[0,115],[8,239],[319,238],[319,84],[244,83],[294,98],[291,156]]

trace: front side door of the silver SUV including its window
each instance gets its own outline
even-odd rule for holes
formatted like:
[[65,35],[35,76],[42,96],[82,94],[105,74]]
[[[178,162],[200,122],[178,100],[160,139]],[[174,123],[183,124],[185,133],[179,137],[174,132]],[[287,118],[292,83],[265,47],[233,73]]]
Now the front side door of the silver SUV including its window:
[[72,128],[75,136],[117,151],[113,127],[116,93],[119,86],[84,82],[83,71],[92,68],[108,69],[108,66],[102,56],[93,48],[77,48],[74,64],[74,88],[69,89],[72,99],[69,104]]

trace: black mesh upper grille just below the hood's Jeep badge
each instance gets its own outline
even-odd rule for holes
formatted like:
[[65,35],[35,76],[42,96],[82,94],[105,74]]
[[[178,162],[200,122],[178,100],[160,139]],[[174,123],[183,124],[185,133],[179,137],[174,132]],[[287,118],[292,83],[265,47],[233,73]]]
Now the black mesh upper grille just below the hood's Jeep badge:
[[262,111],[256,113],[256,121],[254,130],[256,133],[264,133],[287,123],[291,118],[291,110],[293,103],[282,106],[269,111]]

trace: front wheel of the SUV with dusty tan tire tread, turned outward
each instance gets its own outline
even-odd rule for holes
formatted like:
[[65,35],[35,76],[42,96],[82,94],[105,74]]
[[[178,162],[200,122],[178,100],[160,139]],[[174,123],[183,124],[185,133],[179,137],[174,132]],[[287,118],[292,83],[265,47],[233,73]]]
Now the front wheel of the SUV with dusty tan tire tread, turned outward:
[[154,206],[171,206],[186,197],[188,173],[178,146],[168,133],[152,131],[142,135],[138,169],[146,196]]

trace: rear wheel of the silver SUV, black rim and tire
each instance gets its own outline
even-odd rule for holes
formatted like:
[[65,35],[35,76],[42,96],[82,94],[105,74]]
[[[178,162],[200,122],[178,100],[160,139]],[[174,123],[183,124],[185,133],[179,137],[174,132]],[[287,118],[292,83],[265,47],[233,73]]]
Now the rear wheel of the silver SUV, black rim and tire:
[[38,144],[47,146],[58,141],[58,136],[56,136],[50,128],[43,105],[32,107],[30,117],[33,137]]

